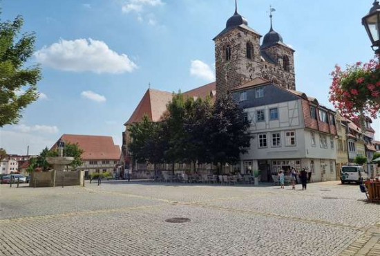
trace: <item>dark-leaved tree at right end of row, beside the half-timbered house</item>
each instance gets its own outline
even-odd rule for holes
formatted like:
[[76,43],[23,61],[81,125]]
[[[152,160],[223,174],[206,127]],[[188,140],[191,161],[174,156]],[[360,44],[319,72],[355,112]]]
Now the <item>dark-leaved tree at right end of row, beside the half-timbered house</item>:
[[231,95],[219,98],[214,107],[209,125],[205,127],[209,155],[220,170],[225,164],[234,165],[250,146],[249,121]]

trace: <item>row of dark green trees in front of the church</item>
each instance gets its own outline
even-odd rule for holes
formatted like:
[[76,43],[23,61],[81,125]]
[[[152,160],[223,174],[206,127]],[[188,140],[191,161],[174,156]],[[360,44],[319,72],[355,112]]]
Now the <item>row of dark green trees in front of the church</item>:
[[129,128],[129,151],[137,163],[235,164],[247,152],[251,136],[245,114],[231,97],[215,104],[173,95],[160,122],[146,116]]

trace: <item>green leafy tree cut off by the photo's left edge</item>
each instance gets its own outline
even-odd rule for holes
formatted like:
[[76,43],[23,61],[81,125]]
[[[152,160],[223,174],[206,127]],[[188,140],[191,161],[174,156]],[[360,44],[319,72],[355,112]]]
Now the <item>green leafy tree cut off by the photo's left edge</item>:
[[[23,18],[0,23],[0,127],[16,124],[21,111],[39,97],[39,66],[24,67],[35,48],[35,34],[21,33]],[[26,87],[27,88],[26,88]]]

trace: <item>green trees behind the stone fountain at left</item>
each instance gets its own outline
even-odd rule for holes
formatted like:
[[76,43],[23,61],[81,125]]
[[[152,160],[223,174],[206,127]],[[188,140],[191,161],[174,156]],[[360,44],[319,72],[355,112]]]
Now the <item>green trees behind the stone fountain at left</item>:
[[[82,154],[83,154],[83,149],[81,149],[77,144],[66,144],[64,148],[64,156],[69,156],[73,157],[74,161],[73,163],[70,163],[70,167],[73,169],[79,167],[82,165]],[[58,154],[58,149],[52,149],[49,150],[48,147],[46,147],[42,152],[37,156],[36,158],[30,158],[30,164],[27,169],[27,172],[33,172],[37,168],[43,172],[46,172],[53,167],[48,163],[46,160],[47,157],[50,156],[59,156]]]

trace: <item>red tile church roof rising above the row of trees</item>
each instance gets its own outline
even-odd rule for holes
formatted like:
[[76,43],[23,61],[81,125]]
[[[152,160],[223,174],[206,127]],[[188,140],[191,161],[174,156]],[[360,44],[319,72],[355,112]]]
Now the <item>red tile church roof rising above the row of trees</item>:
[[[207,96],[214,96],[216,91],[216,82],[200,86],[191,91],[186,91],[183,95],[192,97],[206,98]],[[167,110],[167,104],[171,102],[173,93],[167,91],[159,91],[155,89],[148,89],[140,103],[137,105],[131,118],[124,124],[130,125],[133,122],[140,122],[143,116],[147,116],[149,120],[158,122],[162,114]]]

